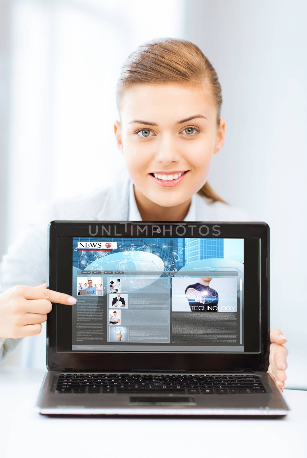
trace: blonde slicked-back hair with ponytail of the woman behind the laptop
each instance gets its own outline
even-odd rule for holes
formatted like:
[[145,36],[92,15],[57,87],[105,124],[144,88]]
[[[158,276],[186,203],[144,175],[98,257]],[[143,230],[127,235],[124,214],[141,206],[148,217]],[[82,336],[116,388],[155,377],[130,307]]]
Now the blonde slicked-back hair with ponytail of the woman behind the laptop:
[[[219,126],[222,88],[217,72],[196,44],[177,38],[158,38],[138,46],[124,61],[116,85],[119,114],[125,90],[142,83],[177,83],[186,87],[203,87],[217,108]],[[213,191],[207,181],[198,193],[213,202],[228,204]]]

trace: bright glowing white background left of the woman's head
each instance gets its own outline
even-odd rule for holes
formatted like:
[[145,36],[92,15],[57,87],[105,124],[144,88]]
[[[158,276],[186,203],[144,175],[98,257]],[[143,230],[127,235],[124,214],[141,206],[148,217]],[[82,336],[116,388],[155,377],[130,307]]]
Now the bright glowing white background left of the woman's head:
[[[183,7],[183,0],[1,0],[0,257],[38,202],[79,194],[97,178],[111,184],[108,170],[122,162],[113,131],[122,63],[145,41],[180,38]],[[85,157],[95,171],[82,182]],[[43,324],[5,364],[45,367],[45,339]]]

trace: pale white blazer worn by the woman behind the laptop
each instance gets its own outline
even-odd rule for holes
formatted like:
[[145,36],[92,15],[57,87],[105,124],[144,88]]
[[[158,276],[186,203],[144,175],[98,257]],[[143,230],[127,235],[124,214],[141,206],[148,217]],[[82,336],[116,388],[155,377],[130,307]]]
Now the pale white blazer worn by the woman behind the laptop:
[[[114,183],[98,191],[69,199],[43,202],[38,206],[35,222],[15,241],[3,256],[0,264],[0,292],[14,285],[36,286],[47,278],[47,231],[53,220],[128,221],[132,183],[125,167],[119,170],[121,185]],[[212,202],[196,193],[193,196],[195,221],[257,221],[252,213],[227,205]],[[189,214],[188,213],[188,214]],[[188,216],[188,215],[187,215]],[[189,219],[185,218],[185,221]],[[0,359],[13,349],[21,339],[0,338]]]

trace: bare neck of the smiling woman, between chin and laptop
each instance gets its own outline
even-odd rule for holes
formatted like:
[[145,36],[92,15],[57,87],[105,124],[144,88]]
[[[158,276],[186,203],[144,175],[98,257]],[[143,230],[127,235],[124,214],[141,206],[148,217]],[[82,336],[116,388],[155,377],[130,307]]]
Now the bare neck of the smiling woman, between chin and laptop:
[[133,185],[134,197],[142,221],[183,221],[188,213],[191,197],[174,207],[163,207],[149,200]]

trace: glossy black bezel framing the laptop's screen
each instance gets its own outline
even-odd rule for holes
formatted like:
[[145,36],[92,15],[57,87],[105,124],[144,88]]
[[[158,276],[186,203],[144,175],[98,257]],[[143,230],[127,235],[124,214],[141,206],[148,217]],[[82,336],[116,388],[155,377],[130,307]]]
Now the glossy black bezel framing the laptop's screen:
[[[101,224],[111,226],[116,236],[118,228],[127,230],[127,236],[135,230],[136,225],[154,225],[161,229],[155,236],[163,237],[163,226],[186,226],[185,237],[189,237],[188,225],[206,225],[208,234],[213,233],[213,226],[218,225],[221,237],[248,238],[256,237],[260,240],[260,316],[259,316],[259,353],[235,352],[78,352],[57,351],[59,334],[57,329],[57,313],[71,314],[69,306],[53,305],[47,320],[47,368],[53,371],[264,371],[269,365],[269,234],[270,228],[264,222],[152,222],[152,221],[53,221],[48,230],[48,288],[58,290],[58,266],[62,262],[59,241],[64,237],[89,236],[89,226],[92,228]],[[114,228],[112,227],[114,225]],[[115,227],[116,226],[116,227]],[[116,232],[117,228],[117,232]],[[195,229],[194,229],[195,230]],[[216,229],[215,229],[216,230]],[[195,234],[195,233],[194,233]],[[195,236],[195,235],[194,235]],[[167,237],[167,235],[165,235]],[[209,235],[208,235],[209,237]],[[67,270],[67,269],[66,269]],[[70,273],[67,272],[68,278]],[[58,311],[58,307],[62,307]],[[63,307],[67,307],[66,311]],[[64,331],[63,331],[64,332]],[[116,358],[110,358],[115,355]],[[146,355],[146,356],[145,356]],[[171,357],[170,357],[171,356]]]

